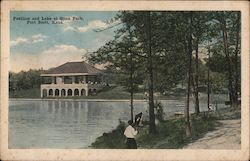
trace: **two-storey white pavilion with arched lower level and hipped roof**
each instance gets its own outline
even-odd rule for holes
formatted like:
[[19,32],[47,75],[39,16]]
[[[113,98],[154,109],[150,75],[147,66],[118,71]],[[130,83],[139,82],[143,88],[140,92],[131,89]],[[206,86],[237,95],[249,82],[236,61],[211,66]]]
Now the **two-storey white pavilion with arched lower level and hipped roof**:
[[84,61],[67,62],[41,76],[45,82],[41,84],[41,98],[88,96],[104,86],[102,71]]

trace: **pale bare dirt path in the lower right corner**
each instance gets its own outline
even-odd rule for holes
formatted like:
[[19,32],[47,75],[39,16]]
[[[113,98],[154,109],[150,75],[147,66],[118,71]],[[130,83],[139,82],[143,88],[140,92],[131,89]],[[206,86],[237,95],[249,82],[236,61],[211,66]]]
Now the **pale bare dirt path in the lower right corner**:
[[184,149],[240,149],[240,120],[220,120],[221,125]]

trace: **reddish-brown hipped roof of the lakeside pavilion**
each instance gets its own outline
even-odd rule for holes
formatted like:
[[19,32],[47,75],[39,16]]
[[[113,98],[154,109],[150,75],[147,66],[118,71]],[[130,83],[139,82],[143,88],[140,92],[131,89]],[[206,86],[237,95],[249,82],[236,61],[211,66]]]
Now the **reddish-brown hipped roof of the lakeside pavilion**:
[[81,62],[67,62],[58,67],[51,68],[44,74],[64,74],[64,73],[88,73],[88,74],[99,74],[101,70],[85,63]]

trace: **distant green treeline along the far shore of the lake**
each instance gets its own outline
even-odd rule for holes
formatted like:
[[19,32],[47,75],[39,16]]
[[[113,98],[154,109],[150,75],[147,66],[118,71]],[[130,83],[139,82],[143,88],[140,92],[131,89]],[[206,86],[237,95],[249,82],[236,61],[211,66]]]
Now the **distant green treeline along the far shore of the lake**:
[[[220,68],[218,68],[215,64],[215,61],[221,61],[223,58],[216,58],[212,61],[210,61],[211,66],[213,66],[211,69],[214,72],[211,72],[211,88],[213,92],[224,92],[225,88],[227,87],[226,83],[226,76],[220,73],[218,71]],[[200,63],[200,78],[199,78],[199,84],[200,84],[200,92],[206,92],[206,84],[207,84],[207,67],[206,65]],[[18,73],[9,72],[9,90],[10,91],[17,91],[17,90],[27,90],[27,89],[33,89],[33,88],[40,88],[40,85],[44,82],[49,82],[48,77],[41,77],[40,75],[44,73],[45,70],[43,69],[30,69],[28,71],[21,71]],[[121,84],[121,73],[116,73],[109,68],[104,71],[104,81],[109,84]],[[159,77],[159,75],[158,75]],[[144,78],[141,78],[137,80],[138,84],[141,85],[141,88],[138,88],[138,86],[134,86],[135,92],[143,92],[142,89],[147,88],[147,84],[145,82]],[[122,84],[121,84],[122,85]],[[179,85],[185,88],[185,81],[179,82]],[[166,92],[173,92],[171,87],[163,87],[161,82],[156,81],[155,85],[155,91],[160,93],[166,93]],[[176,86],[172,86],[174,91],[177,93],[178,90],[176,89]],[[145,90],[145,89],[144,89]]]

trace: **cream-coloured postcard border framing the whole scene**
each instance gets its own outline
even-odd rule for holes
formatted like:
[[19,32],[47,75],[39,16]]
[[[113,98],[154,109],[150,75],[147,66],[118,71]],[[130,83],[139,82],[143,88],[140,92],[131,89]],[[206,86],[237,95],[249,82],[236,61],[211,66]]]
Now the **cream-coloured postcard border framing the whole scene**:
[[[249,2],[247,1],[3,1],[1,3],[1,159],[2,160],[248,160],[249,158]],[[9,15],[26,11],[240,10],[242,13],[241,150],[8,149]]]

